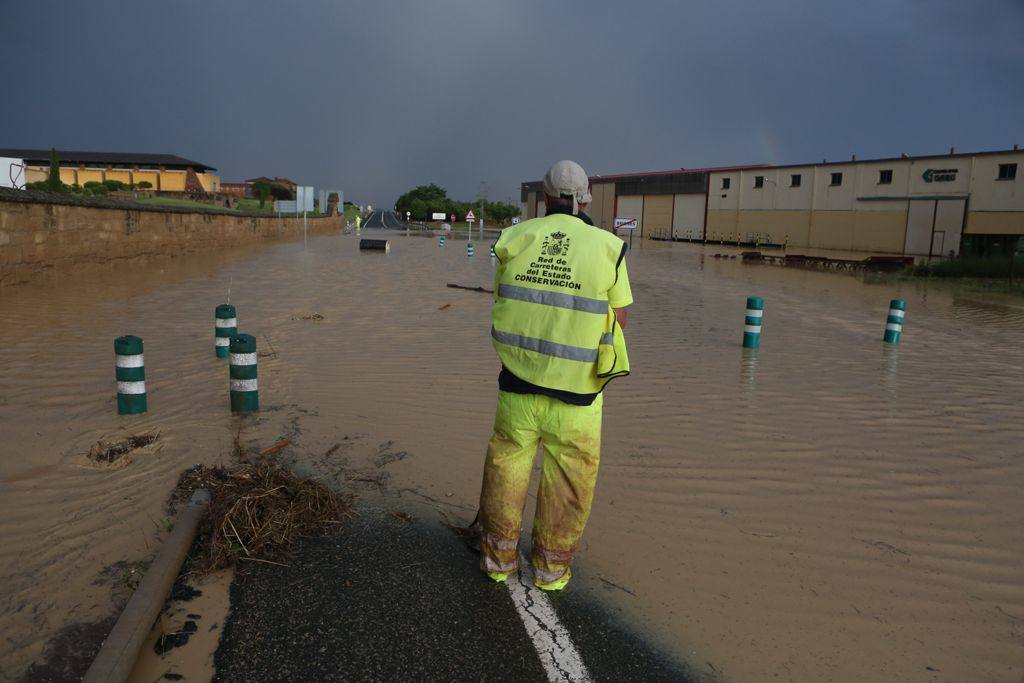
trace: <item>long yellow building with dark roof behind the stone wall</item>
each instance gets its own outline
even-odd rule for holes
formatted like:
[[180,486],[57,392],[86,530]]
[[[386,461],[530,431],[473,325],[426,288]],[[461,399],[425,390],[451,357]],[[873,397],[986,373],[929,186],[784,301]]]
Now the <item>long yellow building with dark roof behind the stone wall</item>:
[[[220,178],[212,166],[174,155],[120,152],[70,152],[57,150],[60,180],[84,185],[89,181],[120,180],[153,185],[163,191],[220,191]],[[45,180],[50,171],[49,150],[2,150],[0,157],[20,160],[25,183]]]

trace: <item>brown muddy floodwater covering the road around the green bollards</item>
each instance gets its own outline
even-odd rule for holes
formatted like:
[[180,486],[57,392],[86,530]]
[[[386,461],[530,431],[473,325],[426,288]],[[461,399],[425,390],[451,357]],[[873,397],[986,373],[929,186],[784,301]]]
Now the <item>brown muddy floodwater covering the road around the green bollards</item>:
[[[705,254],[630,256],[634,372],[606,394],[579,581],[627,589],[604,593],[722,680],[1019,681],[1024,304]],[[180,471],[227,462],[236,434],[471,518],[499,366],[489,298],[444,285],[492,272],[485,245],[346,236],[0,291],[4,676],[110,615],[124,577],[104,567],[152,557]],[[271,353],[257,418],[229,414],[213,353],[228,288]],[[748,294],[766,302],[756,353]],[[884,348],[893,297],[903,343]],[[121,334],[145,340],[145,416],[116,415]],[[126,466],[85,456],[157,430]]]

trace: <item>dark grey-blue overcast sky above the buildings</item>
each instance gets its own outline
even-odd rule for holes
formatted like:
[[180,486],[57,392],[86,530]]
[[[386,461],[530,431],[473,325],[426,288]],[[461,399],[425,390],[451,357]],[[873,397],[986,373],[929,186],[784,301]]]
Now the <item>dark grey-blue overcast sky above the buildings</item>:
[[0,147],[176,154],[391,204],[1024,144],[1024,2],[0,0]]

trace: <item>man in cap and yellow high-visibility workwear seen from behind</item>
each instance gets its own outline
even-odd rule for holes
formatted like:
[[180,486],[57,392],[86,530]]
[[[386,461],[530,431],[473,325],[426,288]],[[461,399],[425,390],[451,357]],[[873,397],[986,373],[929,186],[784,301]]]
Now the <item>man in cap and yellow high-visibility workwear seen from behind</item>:
[[502,231],[490,336],[502,371],[480,492],[480,568],[503,582],[518,568],[519,532],[538,443],[534,520],[537,586],[565,587],[594,500],[605,384],[629,374],[626,244],[583,210],[590,180],[575,162],[544,176],[547,215]]

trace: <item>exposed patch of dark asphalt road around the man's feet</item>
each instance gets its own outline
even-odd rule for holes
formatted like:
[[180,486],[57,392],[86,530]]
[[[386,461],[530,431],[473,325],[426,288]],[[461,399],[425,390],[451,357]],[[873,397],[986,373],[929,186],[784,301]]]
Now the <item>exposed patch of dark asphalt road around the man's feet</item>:
[[364,509],[282,565],[243,563],[215,680],[694,680],[581,586],[530,622],[536,594],[517,604],[477,557],[439,523]]

